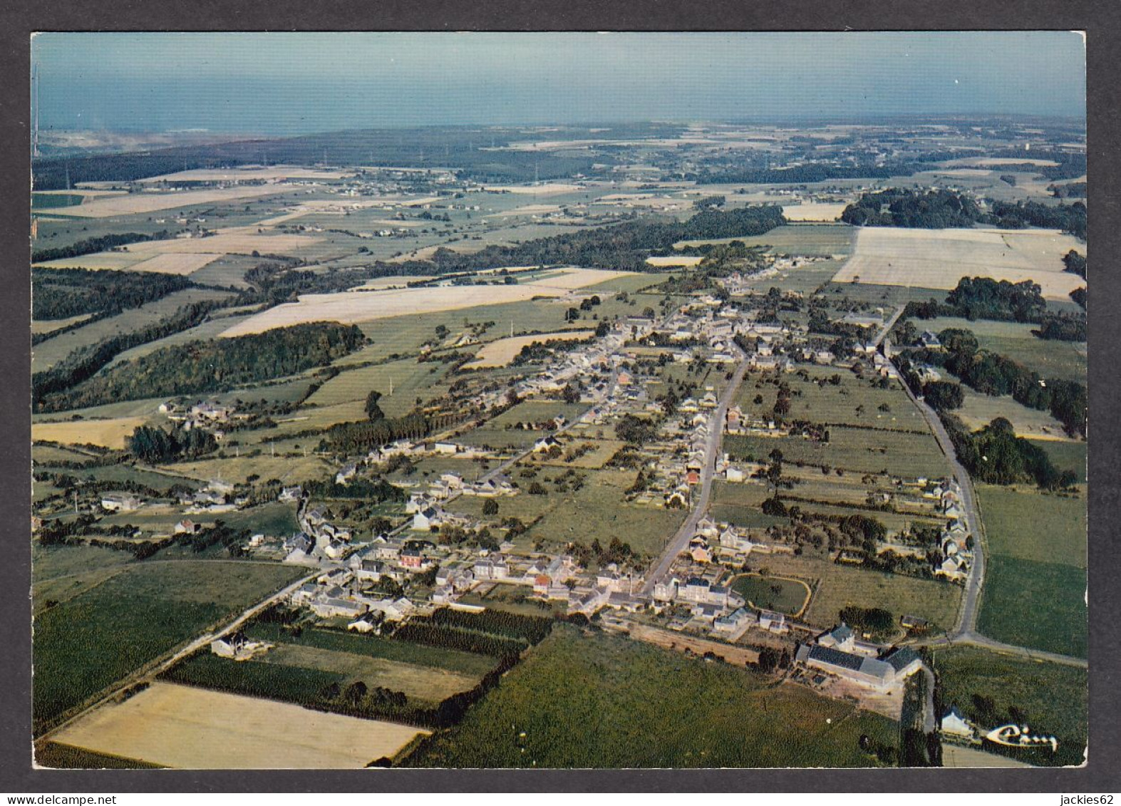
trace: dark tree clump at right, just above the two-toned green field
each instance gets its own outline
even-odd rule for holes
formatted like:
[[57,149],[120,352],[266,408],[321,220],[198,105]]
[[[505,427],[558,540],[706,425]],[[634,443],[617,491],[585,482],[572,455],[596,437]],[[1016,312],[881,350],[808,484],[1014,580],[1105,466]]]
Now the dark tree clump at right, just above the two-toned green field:
[[957,458],[975,479],[990,484],[1034,481],[1045,490],[1063,490],[1077,481],[1072,471],[1059,472],[1041,447],[1016,436],[1003,417],[973,433],[952,415],[942,419]]

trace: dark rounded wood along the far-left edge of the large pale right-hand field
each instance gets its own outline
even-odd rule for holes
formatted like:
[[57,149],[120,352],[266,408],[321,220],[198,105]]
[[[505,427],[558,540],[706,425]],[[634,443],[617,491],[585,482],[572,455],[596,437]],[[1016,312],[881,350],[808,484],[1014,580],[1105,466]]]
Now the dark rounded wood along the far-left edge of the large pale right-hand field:
[[841,221],[858,226],[907,226],[941,230],[972,226],[981,209],[969,196],[953,191],[890,188],[864,193],[841,213]]

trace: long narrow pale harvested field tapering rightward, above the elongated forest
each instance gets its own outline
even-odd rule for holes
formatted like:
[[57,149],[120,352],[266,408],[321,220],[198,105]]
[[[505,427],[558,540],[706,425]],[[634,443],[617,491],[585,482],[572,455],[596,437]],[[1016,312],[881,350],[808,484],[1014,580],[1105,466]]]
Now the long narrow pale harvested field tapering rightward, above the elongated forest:
[[297,303],[286,303],[239,322],[223,336],[263,333],[274,327],[289,327],[305,322],[356,324],[392,316],[424,315],[439,311],[460,311],[480,305],[518,303],[534,297],[563,297],[568,291],[605,282],[633,272],[605,269],[562,269],[555,275],[513,286],[444,286],[385,291],[341,291],[308,294]]

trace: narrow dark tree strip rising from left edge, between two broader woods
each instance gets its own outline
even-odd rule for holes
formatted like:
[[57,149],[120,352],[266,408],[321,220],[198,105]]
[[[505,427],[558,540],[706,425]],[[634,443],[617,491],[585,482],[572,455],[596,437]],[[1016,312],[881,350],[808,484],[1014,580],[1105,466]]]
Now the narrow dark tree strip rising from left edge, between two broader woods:
[[[164,339],[173,333],[202,324],[211,311],[222,307],[220,302],[201,302],[184,305],[166,319],[138,331],[109,336],[96,344],[75,350],[49,370],[31,376],[31,400],[37,411],[58,411],[76,408],[77,401],[63,395],[67,389],[92,378],[105,364],[126,350]],[[148,397],[148,395],[141,395]],[[93,404],[82,404],[93,405]]]

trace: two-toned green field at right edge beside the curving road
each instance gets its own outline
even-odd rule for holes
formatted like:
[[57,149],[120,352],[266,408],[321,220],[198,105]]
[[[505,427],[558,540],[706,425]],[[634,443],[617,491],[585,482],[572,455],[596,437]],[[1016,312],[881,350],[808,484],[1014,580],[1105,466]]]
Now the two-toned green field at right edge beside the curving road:
[[1085,657],[1085,499],[981,484],[978,501],[990,552],[980,630]]

